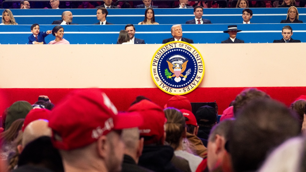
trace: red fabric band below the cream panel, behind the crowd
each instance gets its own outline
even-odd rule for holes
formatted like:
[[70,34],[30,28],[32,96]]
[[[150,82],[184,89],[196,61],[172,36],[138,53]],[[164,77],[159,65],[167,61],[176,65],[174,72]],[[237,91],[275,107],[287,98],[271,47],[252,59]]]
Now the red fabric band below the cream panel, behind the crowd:
[[[271,98],[285,103],[289,106],[297,97],[306,94],[306,87],[257,87],[269,94]],[[85,89],[85,88],[84,88]],[[216,100],[219,107],[219,113],[229,107],[229,103],[235,99],[245,88],[196,88],[195,91],[186,96],[191,102],[214,102]],[[33,104],[37,101],[39,95],[49,96],[55,105],[63,99],[74,88],[1,88],[7,97],[7,106],[18,100],[25,100]],[[143,95],[161,107],[164,107],[172,95],[161,91],[159,88],[101,88],[119,111],[127,110],[138,95]],[[2,114],[2,111],[1,113]]]

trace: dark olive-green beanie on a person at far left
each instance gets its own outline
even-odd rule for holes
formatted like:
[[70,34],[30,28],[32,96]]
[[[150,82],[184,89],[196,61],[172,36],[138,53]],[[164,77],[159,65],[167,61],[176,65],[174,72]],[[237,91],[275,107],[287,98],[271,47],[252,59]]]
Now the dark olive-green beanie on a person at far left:
[[9,129],[15,120],[25,118],[31,109],[32,105],[27,101],[17,101],[13,103],[7,110],[5,130]]

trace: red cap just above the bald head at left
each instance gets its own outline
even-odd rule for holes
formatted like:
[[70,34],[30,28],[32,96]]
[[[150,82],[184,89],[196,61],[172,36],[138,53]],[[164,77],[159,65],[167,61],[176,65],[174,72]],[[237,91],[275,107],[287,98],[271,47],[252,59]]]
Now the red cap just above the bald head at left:
[[25,127],[32,121],[38,120],[38,119],[46,119],[48,120],[50,110],[47,109],[32,109],[29,111],[27,116],[25,117],[25,122],[22,125],[22,131],[25,131]]

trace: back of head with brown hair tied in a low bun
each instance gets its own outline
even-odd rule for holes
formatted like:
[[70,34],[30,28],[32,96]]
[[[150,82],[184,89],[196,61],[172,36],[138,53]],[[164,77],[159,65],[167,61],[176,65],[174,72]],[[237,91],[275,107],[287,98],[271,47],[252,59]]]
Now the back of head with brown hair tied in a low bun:
[[185,131],[185,118],[182,112],[175,108],[166,108],[164,113],[167,118],[166,142],[176,150]]

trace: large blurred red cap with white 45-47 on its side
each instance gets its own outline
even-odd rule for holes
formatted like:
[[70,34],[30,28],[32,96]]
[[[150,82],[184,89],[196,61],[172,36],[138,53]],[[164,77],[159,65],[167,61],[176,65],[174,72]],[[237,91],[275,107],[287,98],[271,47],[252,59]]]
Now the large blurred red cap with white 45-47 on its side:
[[142,125],[138,113],[120,113],[98,88],[71,92],[55,106],[49,116],[55,148],[72,150],[95,142],[112,130]]

